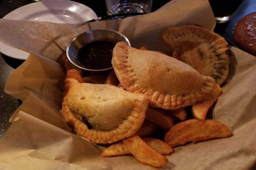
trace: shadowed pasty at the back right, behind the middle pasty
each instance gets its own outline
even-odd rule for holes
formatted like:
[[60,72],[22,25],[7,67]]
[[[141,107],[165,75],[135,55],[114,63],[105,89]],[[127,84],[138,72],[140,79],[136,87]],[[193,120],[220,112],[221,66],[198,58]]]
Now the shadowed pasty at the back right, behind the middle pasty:
[[191,65],[200,74],[212,76],[222,84],[228,76],[230,49],[218,34],[203,27],[185,25],[170,27],[162,33],[163,41],[179,59]]

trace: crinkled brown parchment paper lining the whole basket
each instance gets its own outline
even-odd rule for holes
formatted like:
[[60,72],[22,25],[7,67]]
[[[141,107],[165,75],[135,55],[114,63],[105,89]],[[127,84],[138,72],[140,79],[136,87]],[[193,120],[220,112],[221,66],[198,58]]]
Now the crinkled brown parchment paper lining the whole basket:
[[[55,61],[70,39],[95,28],[120,31],[134,47],[168,52],[160,38],[163,29],[186,24],[213,29],[208,1],[173,0],[151,14],[90,24],[0,20],[0,40],[30,50],[29,58],[11,74],[5,86],[5,92],[23,103],[0,141],[0,169],[157,169],[133,156],[101,158],[99,148],[72,133],[60,112],[65,72]],[[166,156],[169,162],[162,169],[256,166],[256,59],[237,48],[231,50],[234,56],[223,94],[207,116],[228,126],[234,135],[176,147]]]

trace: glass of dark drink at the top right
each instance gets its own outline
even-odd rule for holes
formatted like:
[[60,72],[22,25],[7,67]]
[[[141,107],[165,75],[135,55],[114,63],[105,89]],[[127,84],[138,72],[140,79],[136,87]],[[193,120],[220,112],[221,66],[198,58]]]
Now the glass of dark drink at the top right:
[[231,19],[243,0],[209,0],[217,23]]

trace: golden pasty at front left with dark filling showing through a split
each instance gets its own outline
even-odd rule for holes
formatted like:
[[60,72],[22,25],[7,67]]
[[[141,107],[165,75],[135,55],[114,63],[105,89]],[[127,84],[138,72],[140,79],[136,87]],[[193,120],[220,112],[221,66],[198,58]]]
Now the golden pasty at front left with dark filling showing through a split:
[[109,84],[65,80],[62,109],[75,132],[93,143],[113,143],[141,127],[148,97]]

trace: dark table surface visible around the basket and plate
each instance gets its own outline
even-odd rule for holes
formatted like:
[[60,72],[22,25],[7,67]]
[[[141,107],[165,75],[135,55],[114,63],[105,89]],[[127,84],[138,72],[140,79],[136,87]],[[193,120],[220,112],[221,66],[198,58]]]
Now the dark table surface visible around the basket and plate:
[[[74,0],[75,1],[75,0]],[[77,1],[94,10],[97,16],[106,16],[105,0],[95,1]],[[152,12],[166,4],[167,0],[156,1],[153,0]],[[29,3],[34,3],[31,0],[2,0],[0,1],[0,18],[3,18],[9,12],[16,8],[22,7]],[[244,0],[230,22],[224,24],[216,24],[215,32],[226,37],[234,43],[232,31],[235,24],[243,16],[256,11],[256,0]],[[4,92],[5,83],[14,69],[21,65],[24,61],[13,59],[0,53],[0,140],[11,125],[9,118],[13,112],[18,108],[18,99],[12,97]]]

